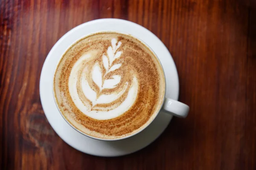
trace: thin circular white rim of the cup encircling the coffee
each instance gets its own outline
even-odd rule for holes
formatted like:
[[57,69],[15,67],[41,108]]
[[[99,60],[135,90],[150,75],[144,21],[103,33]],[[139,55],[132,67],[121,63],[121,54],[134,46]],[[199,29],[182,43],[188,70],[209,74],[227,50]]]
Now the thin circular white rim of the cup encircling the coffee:
[[[74,27],[74,28],[76,28],[76,27]],[[73,28],[73,29],[74,29],[74,28]],[[158,62],[159,62],[159,64],[160,64],[160,66],[161,66],[162,73],[163,73],[163,77],[164,77],[164,95],[163,95],[163,98],[162,98],[162,101],[161,101],[161,104],[160,104],[159,109],[158,109],[158,110],[154,113],[154,115],[153,115],[154,117],[152,116],[151,119],[148,120],[148,122],[145,123],[146,125],[144,124],[143,126],[141,126],[141,127],[143,127],[143,128],[140,127],[141,129],[139,128],[140,130],[138,130],[137,132],[132,133],[132,134],[127,135],[127,136],[123,136],[123,137],[121,137],[121,138],[116,138],[116,139],[104,139],[104,138],[98,138],[98,137],[95,137],[95,136],[90,136],[89,134],[86,134],[86,133],[82,132],[82,131],[79,130],[77,127],[75,127],[73,124],[71,124],[71,123],[65,118],[65,116],[61,113],[60,108],[59,108],[59,106],[58,106],[58,104],[57,104],[57,99],[56,99],[56,97],[55,97],[55,91],[54,91],[54,78],[55,78],[55,74],[56,74],[58,65],[59,65],[59,63],[61,62],[61,59],[63,58],[63,55],[64,55],[73,45],[75,45],[75,44],[76,44],[77,42],[79,42],[80,40],[82,40],[82,39],[84,39],[84,38],[86,38],[86,37],[90,37],[90,36],[92,36],[92,35],[94,35],[94,34],[99,34],[99,33],[117,33],[117,34],[124,34],[124,35],[127,35],[127,36],[129,36],[129,37],[132,37],[132,38],[137,39],[138,41],[140,41],[140,42],[141,42],[143,45],[145,45],[145,47],[148,48],[148,49],[151,51],[151,53],[153,53],[154,56],[157,58],[157,60],[158,60]],[[64,34],[63,37],[64,37],[65,35],[66,35],[66,34]],[[62,39],[61,41],[63,41],[63,39]],[[166,76],[165,76],[165,73],[164,73],[163,65],[162,65],[162,63],[160,62],[160,59],[157,57],[157,54],[152,50],[152,48],[151,48],[147,43],[145,43],[145,42],[144,42],[143,40],[141,40],[140,38],[138,38],[138,37],[136,37],[136,36],[134,36],[134,35],[132,35],[132,34],[122,32],[122,31],[113,31],[113,30],[109,30],[109,31],[96,31],[96,32],[93,32],[93,33],[90,33],[90,34],[86,34],[85,36],[80,37],[78,40],[76,40],[75,42],[73,42],[73,43],[72,43],[71,45],[69,45],[68,48],[64,51],[64,53],[62,54],[62,56],[60,57],[60,59],[58,59],[58,62],[57,62],[56,66],[55,66],[55,69],[54,69],[54,73],[53,73],[53,75],[52,75],[52,95],[53,95],[53,98],[54,98],[54,103],[55,103],[56,107],[58,108],[58,111],[59,111],[59,113],[61,114],[62,118],[63,118],[63,119],[68,123],[68,125],[70,125],[74,130],[76,130],[77,132],[79,132],[79,133],[81,133],[82,135],[87,136],[87,137],[89,137],[89,138],[91,138],[91,139],[96,139],[96,140],[100,140],[100,141],[118,141],[118,140],[126,139],[126,138],[129,138],[129,137],[131,137],[131,136],[137,135],[138,133],[140,133],[141,131],[143,131],[146,127],[148,127],[148,125],[150,125],[150,124],[154,121],[154,119],[157,117],[157,115],[160,113],[160,110],[161,110],[162,107],[163,107],[164,100],[165,100],[165,97],[166,97]]]

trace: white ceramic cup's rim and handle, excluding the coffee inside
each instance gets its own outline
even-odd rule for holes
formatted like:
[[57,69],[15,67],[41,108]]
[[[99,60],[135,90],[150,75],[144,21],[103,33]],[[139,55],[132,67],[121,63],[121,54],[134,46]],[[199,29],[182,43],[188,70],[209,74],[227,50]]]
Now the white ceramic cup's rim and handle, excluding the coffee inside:
[[[107,33],[108,31],[99,31],[99,32],[106,32],[106,33]],[[99,33],[99,32],[94,32],[94,33],[92,33],[92,34],[97,34],[97,33]],[[158,59],[159,63],[161,64],[159,58],[157,57],[157,54],[155,54],[155,52],[150,48],[150,46],[147,45],[143,40],[139,39],[138,37],[135,37],[134,35],[127,34],[127,33],[123,33],[123,32],[120,32],[120,31],[110,31],[110,32],[116,32],[116,33],[119,33],[119,34],[126,34],[126,35],[128,35],[128,36],[130,36],[130,37],[134,37],[135,39],[140,40],[140,42],[142,42],[143,45],[145,45],[146,47],[148,47],[148,49],[151,50],[151,52],[156,56],[156,58]],[[90,34],[88,34],[88,35],[90,35]],[[86,36],[84,36],[84,37],[87,37],[88,35],[86,35]],[[79,40],[83,39],[84,37],[81,37]],[[73,44],[76,44],[76,42],[72,43],[72,45],[73,45]],[[70,46],[72,46],[72,45],[70,45]],[[68,48],[67,48],[67,49],[68,49]],[[62,57],[61,57],[61,58],[62,58]],[[61,58],[60,58],[60,60],[61,60]],[[57,66],[56,66],[56,68],[55,68],[55,71],[56,71],[57,67],[58,67],[58,64],[57,64]],[[161,64],[161,68],[162,68],[162,71],[163,71],[163,66],[162,66],[162,64]],[[164,71],[163,71],[163,74],[164,74]],[[53,75],[53,76],[55,76],[55,75]],[[54,79],[54,78],[53,78],[53,79]],[[53,79],[52,79],[52,83],[53,83]],[[166,77],[165,77],[165,74],[164,74],[164,82],[165,82],[165,84],[166,84]],[[53,86],[54,86],[54,85],[53,85]],[[165,86],[165,88],[168,88],[168,87]],[[52,88],[52,92],[53,92],[53,95],[54,95],[55,92],[54,92],[53,88]],[[162,99],[163,102],[160,103],[160,105],[162,106],[160,110],[162,110],[162,111],[165,112],[165,113],[172,114],[173,116],[177,116],[177,117],[181,117],[181,118],[186,118],[186,116],[187,116],[188,113],[189,113],[189,106],[186,105],[186,104],[184,104],[184,103],[182,103],[182,102],[179,102],[179,101],[177,101],[177,100],[173,100],[173,99],[167,98],[167,97],[165,97],[165,96],[166,96],[166,89],[165,89],[165,95],[164,95],[164,97],[163,97],[164,99]],[[54,97],[54,99],[55,99],[55,97]],[[58,108],[58,104],[57,104],[57,102],[56,102],[56,99],[55,99],[55,104],[57,105],[57,108]],[[58,110],[59,110],[59,109],[58,109]],[[157,114],[160,112],[160,110],[157,111],[157,113],[156,113],[156,114],[153,114],[152,116],[154,116],[154,118],[155,118],[155,117],[157,116]],[[136,135],[137,133],[140,133],[140,132],[141,132],[142,130],[144,130],[146,127],[148,127],[148,125],[150,125],[151,122],[153,122],[153,120],[154,120],[154,119],[151,119],[151,121],[150,121],[150,122],[147,122],[147,123],[146,123],[147,125],[144,126],[141,130],[139,130],[139,131],[137,131],[137,132],[135,132],[135,133],[131,133],[131,134],[128,135],[128,136],[125,136],[125,137],[122,137],[122,138],[117,138],[117,139],[103,139],[103,138],[97,138],[97,137],[94,137],[94,136],[90,136],[90,135],[88,135],[88,134],[86,134],[86,133],[83,133],[81,130],[79,130],[78,128],[74,127],[72,124],[70,124],[70,123],[67,121],[67,119],[62,115],[62,113],[61,113],[60,110],[59,110],[59,112],[60,112],[61,116],[64,118],[64,120],[65,120],[71,127],[73,127],[76,131],[78,131],[79,133],[81,133],[81,134],[83,134],[83,135],[85,135],[85,136],[88,136],[88,137],[90,137],[90,138],[93,138],[93,139],[105,140],[105,141],[115,141],[115,140],[125,139],[125,138],[128,138],[128,137],[134,136],[134,135]]]

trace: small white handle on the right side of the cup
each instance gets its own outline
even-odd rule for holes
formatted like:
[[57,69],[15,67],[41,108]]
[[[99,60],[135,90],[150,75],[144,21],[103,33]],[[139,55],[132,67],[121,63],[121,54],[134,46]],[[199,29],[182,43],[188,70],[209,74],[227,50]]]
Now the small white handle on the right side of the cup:
[[189,113],[189,106],[182,102],[165,98],[162,110],[174,116],[185,118]]

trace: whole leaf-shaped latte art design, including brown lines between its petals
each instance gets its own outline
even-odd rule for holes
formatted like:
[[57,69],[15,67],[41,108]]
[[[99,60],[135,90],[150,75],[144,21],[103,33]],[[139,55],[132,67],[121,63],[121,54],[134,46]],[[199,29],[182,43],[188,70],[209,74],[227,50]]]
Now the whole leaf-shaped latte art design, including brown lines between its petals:
[[[129,81],[118,87],[122,78],[118,69],[122,62],[114,63],[121,57],[122,51],[117,50],[122,43],[116,43],[113,38],[112,46],[102,55],[101,61],[99,59],[90,62],[93,52],[84,54],[70,73],[68,86],[74,104],[81,112],[94,119],[104,120],[120,116],[131,108],[137,98],[136,75],[129,75]],[[112,74],[113,71],[116,74]]]

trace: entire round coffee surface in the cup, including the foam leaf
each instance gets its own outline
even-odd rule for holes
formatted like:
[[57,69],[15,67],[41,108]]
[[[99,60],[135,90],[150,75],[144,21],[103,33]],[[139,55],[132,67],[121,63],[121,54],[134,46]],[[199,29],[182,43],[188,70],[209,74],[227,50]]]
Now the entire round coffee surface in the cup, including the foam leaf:
[[148,125],[165,94],[163,68],[137,38],[100,32],[74,43],[53,79],[55,101],[81,132],[119,139]]

